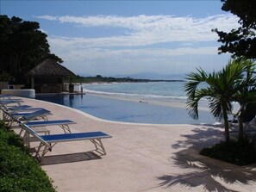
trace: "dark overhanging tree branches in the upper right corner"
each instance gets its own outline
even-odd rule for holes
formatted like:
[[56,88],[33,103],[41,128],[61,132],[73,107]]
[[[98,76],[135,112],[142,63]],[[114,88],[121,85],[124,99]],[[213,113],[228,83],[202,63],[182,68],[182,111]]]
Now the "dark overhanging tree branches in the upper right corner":
[[234,57],[256,59],[256,0],[222,0],[222,10],[239,17],[240,28],[226,33],[214,29],[219,35],[219,53],[232,53]]

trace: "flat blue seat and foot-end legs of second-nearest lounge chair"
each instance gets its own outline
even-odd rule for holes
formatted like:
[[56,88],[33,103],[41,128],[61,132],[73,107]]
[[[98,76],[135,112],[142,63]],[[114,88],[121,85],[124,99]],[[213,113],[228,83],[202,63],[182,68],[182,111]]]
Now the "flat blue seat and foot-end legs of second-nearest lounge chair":
[[29,127],[46,127],[46,126],[59,126],[63,129],[64,133],[71,133],[69,125],[76,124],[71,120],[53,120],[53,121],[29,121],[26,123]]

